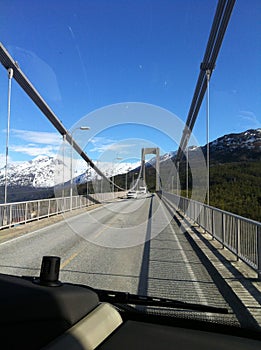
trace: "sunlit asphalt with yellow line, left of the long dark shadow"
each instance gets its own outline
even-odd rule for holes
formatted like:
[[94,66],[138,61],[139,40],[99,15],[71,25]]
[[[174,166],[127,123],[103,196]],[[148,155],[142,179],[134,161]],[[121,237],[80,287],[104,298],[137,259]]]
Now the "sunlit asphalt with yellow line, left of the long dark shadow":
[[4,242],[0,272],[38,276],[42,256],[57,255],[63,281],[137,292],[150,203],[151,197],[107,203]]

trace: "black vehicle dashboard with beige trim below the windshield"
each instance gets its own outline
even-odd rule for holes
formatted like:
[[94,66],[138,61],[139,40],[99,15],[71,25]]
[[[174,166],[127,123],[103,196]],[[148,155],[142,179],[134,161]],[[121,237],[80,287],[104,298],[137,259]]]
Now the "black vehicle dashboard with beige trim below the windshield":
[[[43,266],[43,265],[42,265]],[[42,276],[43,277],[43,276]],[[0,274],[6,349],[260,349],[260,339],[104,302],[92,288],[56,278]],[[2,346],[2,345],[1,345]]]

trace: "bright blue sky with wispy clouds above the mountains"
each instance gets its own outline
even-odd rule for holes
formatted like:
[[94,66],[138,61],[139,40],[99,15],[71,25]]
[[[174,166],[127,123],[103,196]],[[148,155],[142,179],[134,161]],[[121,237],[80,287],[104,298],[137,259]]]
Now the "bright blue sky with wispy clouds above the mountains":
[[[119,157],[130,139],[172,151],[180,132],[173,139],[173,129],[187,118],[216,5],[215,0],[0,0],[0,41],[66,128],[91,127],[77,131],[91,158],[113,145],[119,145],[113,148]],[[237,0],[210,83],[210,140],[261,126],[260,36],[261,2]],[[1,166],[7,119],[2,66],[0,92]],[[127,120],[112,127],[100,119],[106,106],[127,102],[141,104],[136,128]],[[143,104],[175,115],[169,133],[158,130],[158,120],[144,126]],[[205,116],[204,101],[193,130],[200,145],[206,142]],[[60,144],[54,127],[13,81],[10,161],[55,156]]]

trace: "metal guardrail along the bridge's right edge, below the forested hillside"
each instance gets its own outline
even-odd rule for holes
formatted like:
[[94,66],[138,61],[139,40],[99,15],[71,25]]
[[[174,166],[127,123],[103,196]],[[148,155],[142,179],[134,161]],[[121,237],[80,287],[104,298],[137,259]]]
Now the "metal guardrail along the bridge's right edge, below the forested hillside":
[[208,232],[261,279],[261,223],[169,192],[163,198]]

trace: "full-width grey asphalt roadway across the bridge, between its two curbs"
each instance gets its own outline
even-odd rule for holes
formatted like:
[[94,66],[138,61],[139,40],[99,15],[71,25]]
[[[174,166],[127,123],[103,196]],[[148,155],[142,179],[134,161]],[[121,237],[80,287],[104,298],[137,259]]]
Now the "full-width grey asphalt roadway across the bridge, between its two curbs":
[[3,242],[0,272],[39,276],[44,255],[61,257],[64,282],[227,307],[236,322],[233,295],[157,196],[107,203]]

